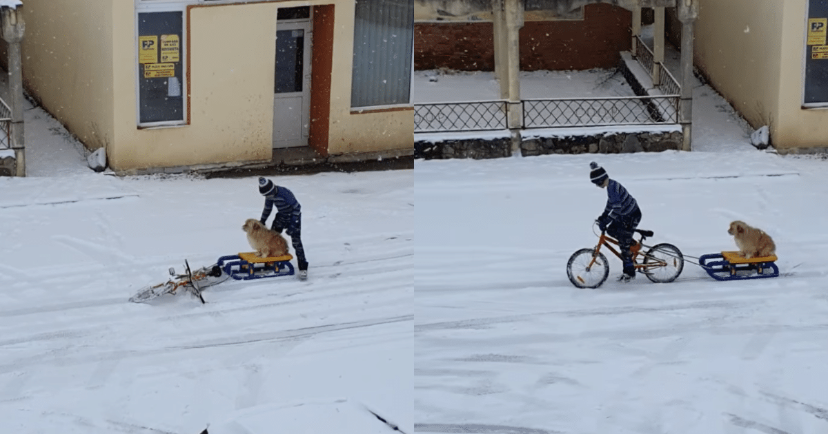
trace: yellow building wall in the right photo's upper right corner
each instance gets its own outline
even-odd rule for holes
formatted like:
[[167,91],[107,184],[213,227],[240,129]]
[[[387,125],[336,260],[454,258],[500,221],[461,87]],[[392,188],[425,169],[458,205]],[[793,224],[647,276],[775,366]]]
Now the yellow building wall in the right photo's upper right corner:
[[825,147],[828,110],[802,109],[807,0],[701,0],[696,66],[782,153]]

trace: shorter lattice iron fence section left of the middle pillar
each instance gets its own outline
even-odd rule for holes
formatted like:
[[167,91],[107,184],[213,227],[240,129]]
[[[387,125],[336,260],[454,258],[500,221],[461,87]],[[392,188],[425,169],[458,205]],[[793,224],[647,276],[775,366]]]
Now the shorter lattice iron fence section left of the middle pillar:
[[506,101],[429,103],[414,106],[414,131],[488,131],[508,128]]

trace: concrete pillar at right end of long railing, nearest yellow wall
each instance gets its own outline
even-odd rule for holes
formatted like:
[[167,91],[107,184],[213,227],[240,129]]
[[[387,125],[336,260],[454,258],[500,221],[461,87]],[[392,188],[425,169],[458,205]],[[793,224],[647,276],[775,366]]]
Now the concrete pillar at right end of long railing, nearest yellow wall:
[[691,126],[693,118],[693,22],[699,17],[699,0],[676,0],[681,21],[681,111],[679,122],[684,135],[681,150],[693,150]]

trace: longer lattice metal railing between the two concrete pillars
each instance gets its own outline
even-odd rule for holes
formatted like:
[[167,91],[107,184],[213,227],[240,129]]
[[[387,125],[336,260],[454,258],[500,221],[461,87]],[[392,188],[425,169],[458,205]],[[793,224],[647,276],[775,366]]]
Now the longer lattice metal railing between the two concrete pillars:
[[676,95],[525,99],[523,128],[677,123],[678,100]]

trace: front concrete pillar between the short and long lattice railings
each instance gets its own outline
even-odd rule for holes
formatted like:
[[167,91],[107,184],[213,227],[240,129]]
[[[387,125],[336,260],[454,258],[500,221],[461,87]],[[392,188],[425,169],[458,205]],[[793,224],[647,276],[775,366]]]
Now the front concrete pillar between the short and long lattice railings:
[[512,153],[520,151],[520,130],[523,116],[520,102],[520,29],[523,26],[522,0],[505,0],[506,56],[509,76],[508,121],[512,130]]

